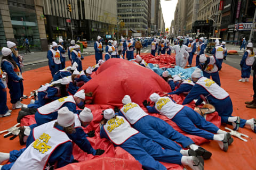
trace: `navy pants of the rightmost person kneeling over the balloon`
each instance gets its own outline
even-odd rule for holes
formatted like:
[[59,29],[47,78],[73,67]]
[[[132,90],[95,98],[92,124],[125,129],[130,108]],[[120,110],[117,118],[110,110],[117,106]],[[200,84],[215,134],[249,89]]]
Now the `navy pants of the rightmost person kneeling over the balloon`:
[[[210,104],[215,107],[216,111],[221,117],[221,123],[228,123],[228,117],[232,117],[231,114],[233,113],[233,105],[230,97],[223,100],[216,99],[214,101],[210,101]],[[245,122],[246,120],[241,118],[239,126],[244,128]]]

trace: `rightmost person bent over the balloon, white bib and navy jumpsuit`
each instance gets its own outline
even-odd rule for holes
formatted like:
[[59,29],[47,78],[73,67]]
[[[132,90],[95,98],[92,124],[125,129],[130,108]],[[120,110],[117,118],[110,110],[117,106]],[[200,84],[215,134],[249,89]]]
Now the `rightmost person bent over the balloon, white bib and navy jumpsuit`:
[[[182,105],[189,104],[192,100],[198,99],[200,95],[203,95],[206,98],[207,103],[210,103],[215,107],[221,117],[221,123],[231,123],[236,131],[239,127],[244,128],[245,125],[248,125],[252,131],[256,133],[256,122],[254,118],[244,120],[239,116],[234,117],[231,115],[233,113],[233,105],[229,94],[218,86],[217,83],[202,77],[201,70],[198,68],[191,74],[191,78],[195,83],[195,86],[191,89]],[[202,101],[202,99],[197,100],[196,105],[200,105]]]

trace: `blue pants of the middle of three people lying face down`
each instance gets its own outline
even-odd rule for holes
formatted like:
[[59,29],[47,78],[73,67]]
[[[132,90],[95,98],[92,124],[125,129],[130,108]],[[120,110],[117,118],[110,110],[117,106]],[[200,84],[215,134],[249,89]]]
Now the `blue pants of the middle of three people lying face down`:
[[194,143],[190,138],[175,131],[172,126],[165,121],[150,115],[142,117],[133,125],[133,128],[137,129],[154,142],[157,142],[164,149],[179,152],[182,148],[174,141],[181,143],[183,148],[187,148],[190,144]]

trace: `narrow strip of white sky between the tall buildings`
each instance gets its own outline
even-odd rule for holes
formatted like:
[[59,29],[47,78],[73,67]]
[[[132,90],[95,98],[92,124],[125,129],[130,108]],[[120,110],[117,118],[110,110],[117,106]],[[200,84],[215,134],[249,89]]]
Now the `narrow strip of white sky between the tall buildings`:
[[164,16],[165,28],[170,29],[171,27],[171,22],[174,19],[174,12],[175,12],[177,3],[178,3],[178,0],[172,0],[172,1],[161,0],[161,7],[163,11],[163,16]]

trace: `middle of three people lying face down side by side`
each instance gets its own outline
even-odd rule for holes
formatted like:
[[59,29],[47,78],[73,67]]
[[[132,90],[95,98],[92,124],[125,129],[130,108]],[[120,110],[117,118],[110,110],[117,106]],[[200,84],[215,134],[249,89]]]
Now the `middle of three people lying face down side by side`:
[[124,106],[120,109],[118,115],[125,117],[134,129],[157,142],[164,149],[175,150],[185,156],[196,156],[193,149],[183,150],[177,143],[173,142],[181,143],[183,148],[190,148],[190,146],[191,148],[198,148],[190,138],[175,131],[172,126],[160,118],[145,113],[138,104],[132,103],[129,95],[124,96],[122,103]]

